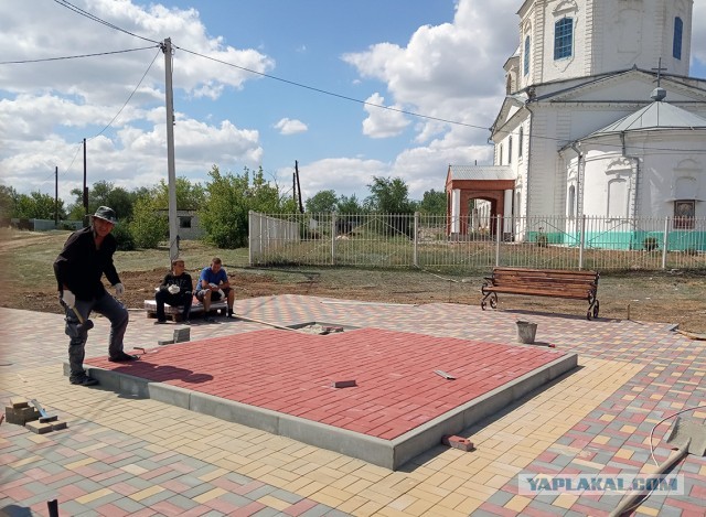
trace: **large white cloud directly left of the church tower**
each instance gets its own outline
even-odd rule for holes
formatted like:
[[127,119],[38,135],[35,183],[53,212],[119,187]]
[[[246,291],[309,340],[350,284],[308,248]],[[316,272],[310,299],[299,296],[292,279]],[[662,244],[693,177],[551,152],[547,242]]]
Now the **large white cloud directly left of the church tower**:
[[[516,0],[460,0],[452,23],[421,26],[407,46],[378,43],[343,60],[367,78],[383,82],[396,106],[479,129],[464,142],[483,143],[502,101],[502,65],[517,46]],[[502,15],[501,15],[502,14]],[[416,125],[418,143],[446,131],[463,131],[434,120]]]

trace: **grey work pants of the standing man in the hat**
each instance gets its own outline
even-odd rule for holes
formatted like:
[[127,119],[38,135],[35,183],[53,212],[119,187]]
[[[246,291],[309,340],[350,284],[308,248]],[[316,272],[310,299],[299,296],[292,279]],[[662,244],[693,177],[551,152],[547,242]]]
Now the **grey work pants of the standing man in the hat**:
[[[79,330],[79,320],[74,310],[64,305],[66,310],[66,335],[71,337],[68,342],[68,366],[71,378],[81,378],[86,375],[84,369],[84,358],[86,357],[86,341],[88,332]],[[122,303],[110,294],[106,293],[101,298],[93,300],[76,300],[76,310],[88,320],[92,312],[97,312],[110,321],[110,334],[108,336],[108,355],[116,357],[122,352],[122,338],[128,327],[128,311]]]

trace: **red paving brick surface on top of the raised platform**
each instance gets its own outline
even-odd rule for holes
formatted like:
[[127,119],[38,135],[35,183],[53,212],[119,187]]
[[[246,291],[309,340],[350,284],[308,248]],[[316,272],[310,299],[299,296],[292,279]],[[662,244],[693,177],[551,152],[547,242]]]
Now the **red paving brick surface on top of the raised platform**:
[[275,328],[160,347],[136,363],[86,363],[391,440],[563,355],[379,328]]

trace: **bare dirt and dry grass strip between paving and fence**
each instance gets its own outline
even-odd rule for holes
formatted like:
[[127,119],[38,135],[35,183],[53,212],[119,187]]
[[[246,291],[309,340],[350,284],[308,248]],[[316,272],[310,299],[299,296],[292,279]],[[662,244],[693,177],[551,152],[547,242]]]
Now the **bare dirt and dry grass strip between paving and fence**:
[[[61,313],[52,262],[66,235],[15,234],[0,236],[0,306]],[[442,271],[360,268],[247,267],[247,254],[204,248],[193,244],[184,251],[194,280],[202,257],[223,257],[236,299],[303,294],[387,303],[461,303],[480,305],[483,274]],[[126,287],[121,301],[142,309],[151,299],[167,267],[146,268],[162,261],[163,251],[116,254],[116,266]],[[199,262],[199,263],[197,263]],[[489,271],[490,272],[490,271]],[[631,271],[601,273],[598,299],[600,317],[678,324],[683,331],[706,334],[706,271]],[[560,313],[585,317],[587,303],[537,297],[501,295],[500,310]]]

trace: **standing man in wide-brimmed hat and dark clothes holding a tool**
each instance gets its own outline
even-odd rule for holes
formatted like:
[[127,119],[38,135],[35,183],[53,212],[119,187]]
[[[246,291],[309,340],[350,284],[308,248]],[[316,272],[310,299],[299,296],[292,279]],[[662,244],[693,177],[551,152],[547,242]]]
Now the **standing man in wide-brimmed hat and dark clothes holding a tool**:
[[128,311],[108,294],[101,281],[105,274],[115,288],[116,295],[119,297],[125,292],[125,287],[113,263],[117,241],[110,231],[116,222],[115,211],[100,206],[92,217],[92,225],[74,231],[54,261],[58,299],[66,311],[65,332],[71,337],[68,364],[69,381],[73,385],[98,384],[96,379],[86,375],[83,367],[88,331],[93,328],[93,322],[88,320],[92,311],[103,314],[110,321],[108,360],[125,363],[138,359],[138,356],[126,354],[122,349],[122,337],[128,326]]

